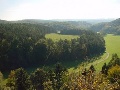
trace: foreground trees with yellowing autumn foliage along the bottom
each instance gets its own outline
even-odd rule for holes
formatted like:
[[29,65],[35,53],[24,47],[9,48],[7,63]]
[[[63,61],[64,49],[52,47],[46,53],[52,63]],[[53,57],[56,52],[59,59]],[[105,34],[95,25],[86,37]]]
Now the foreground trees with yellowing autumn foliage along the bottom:
[[[116,62],[119,62],[118,64]],[[25,69],[18,68],[12,70],[4,81],[3,74],[0,73],[0,89],[9,90],[119,90],[120,89],[120,58],[113,54],[111,65],[104,73],[105,65],[101,72],[96,73],[91,65],[88,69],[78,72],[68,72],[60,63],[54,68],[37,68],[28,74]]]

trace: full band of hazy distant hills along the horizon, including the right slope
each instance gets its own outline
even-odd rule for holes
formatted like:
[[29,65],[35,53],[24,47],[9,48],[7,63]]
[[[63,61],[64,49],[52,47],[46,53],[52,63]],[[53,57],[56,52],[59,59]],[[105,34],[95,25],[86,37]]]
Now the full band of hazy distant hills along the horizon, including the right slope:
[[57,31],[67,29],[88,29],[101,33],[120,34],[120,18],[114,19],[24,19],[17,21],[0,20],[0,23],[30,23],[54,28]]

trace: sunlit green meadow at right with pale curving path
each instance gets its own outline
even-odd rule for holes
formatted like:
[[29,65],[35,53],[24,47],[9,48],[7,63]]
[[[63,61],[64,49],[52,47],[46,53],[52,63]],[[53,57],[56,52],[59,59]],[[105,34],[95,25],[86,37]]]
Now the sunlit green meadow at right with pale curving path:
[[112,54],[117,53],[120,57],[120,36],[114,36],[112,34],[108,34],[104,37],[106,42],[106,53],[104,53],[100,59],[89,63],[87,68],[90,65],[94,65],[96,71],[100,71],[104,63],[108,63],[112,57]]

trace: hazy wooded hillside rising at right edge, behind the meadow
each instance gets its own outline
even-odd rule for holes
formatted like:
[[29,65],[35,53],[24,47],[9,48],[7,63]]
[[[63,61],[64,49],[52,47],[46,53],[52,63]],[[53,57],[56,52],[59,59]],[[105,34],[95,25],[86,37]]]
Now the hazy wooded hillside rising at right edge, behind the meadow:
[[95,24],[89,29],[101,33],[120,35],[120,18],[111,22]]

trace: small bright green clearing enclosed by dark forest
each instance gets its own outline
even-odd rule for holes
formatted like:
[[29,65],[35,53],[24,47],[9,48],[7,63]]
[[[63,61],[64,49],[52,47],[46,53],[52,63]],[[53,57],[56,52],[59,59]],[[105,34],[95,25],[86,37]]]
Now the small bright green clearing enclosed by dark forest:
[[51,38],[53,41],[58,41],[60,39],[71,40],[71,39],[74,39],[74,38],[79,38],[79,36],[77,36],[77,35],[61,35],[61,34],[51,33],[51,34],[46,34],[45,38]]

